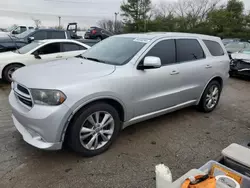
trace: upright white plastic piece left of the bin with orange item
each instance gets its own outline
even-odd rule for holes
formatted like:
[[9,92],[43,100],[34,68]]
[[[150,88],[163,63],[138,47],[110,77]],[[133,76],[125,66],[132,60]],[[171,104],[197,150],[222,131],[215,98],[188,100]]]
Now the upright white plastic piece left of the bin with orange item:
[[172,173],[164,164],[155,166],[156,188],[167,188],[172,184]]

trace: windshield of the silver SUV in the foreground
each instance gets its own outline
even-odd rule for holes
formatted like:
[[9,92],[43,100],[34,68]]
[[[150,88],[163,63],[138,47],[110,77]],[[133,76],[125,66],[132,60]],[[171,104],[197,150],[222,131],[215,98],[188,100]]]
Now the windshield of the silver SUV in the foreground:
[[112,65],[123,65],[128,63],[147,41],[128,37],[110,37],[94,45],[82,57]]

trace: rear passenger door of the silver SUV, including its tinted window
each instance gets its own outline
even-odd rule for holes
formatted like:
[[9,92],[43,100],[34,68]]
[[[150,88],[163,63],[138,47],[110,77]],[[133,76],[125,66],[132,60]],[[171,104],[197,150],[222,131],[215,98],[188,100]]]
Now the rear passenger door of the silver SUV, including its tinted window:
[[178,70],[180,72],[180,98],[178,103],[196,101],[214,70],[206,57],[204,43],[196,38],[176,39]]

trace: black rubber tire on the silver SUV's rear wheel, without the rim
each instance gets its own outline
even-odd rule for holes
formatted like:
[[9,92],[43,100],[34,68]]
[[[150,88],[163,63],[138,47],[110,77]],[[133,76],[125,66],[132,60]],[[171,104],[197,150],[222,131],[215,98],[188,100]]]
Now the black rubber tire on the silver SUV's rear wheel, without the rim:
[[[217,87],[218,88],[218,99],[217,99],[217,102],[215,103],[215,105],[211,108],[208,108],[207,104],[206,104],[206,98],[207,98],[207,95],[209,94],[209,90],[212,88],[212,87]],[[203,92],[202,94],[202,97],[201,97],[201,100],[198,104],[198,109],[202,112],[205,112],[205,113],[209,113],[209,112],[212,112],[216,106],[218,105],[219,103],[219,100],[220,100],[220,95],[221,95],[221,89],[222,89],[222,86],[220,85],[220,83],[216,80],[213,80],[211,81],[208,86],[206,87],[205,91]]]

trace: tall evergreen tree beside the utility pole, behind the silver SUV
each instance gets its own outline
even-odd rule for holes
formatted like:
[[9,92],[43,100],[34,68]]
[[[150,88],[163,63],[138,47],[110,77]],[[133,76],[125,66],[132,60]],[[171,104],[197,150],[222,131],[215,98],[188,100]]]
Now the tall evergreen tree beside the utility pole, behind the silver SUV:
[[146,30],[148,13],[151,10],[151,0],[127,0],[121,5],[124,17],[125,30],[128,32],[141,32]]

